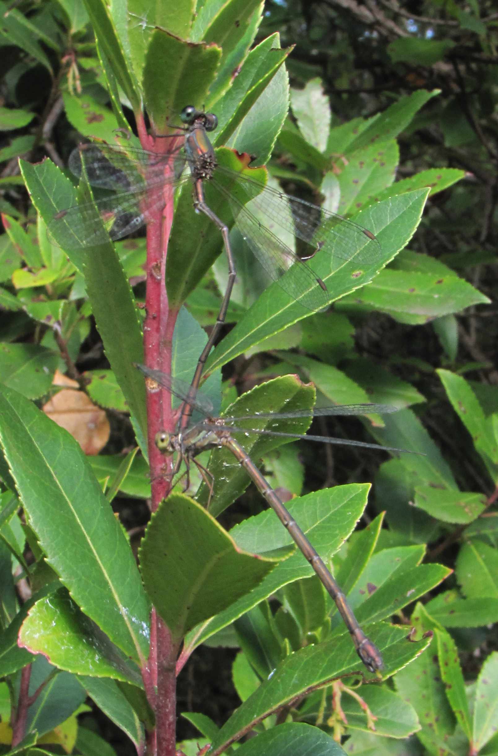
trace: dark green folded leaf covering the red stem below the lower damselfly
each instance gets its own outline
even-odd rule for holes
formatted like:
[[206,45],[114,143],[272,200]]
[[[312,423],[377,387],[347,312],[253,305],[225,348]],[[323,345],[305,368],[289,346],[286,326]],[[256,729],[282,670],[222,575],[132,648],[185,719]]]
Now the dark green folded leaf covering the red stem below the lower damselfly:
[[275,566],[242,552],[203,507],[181,494],[169,496],[153,514],[140,564],[147,593],[176,643],[249,593]]

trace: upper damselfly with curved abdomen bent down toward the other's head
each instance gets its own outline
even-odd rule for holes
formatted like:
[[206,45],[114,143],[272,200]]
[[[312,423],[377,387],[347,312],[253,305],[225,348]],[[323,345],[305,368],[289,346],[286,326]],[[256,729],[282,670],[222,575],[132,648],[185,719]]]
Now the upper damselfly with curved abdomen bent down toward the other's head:
[[[85,249],[109,238],[121,239],[157,216],[158,208],[172,197],[172,187],[193,182],[193,206],[219,228],[229,271],[215,326],[193,376],[194,393],[224,323],[236,275],[227,225],[207,206],[204,181],[210,181],[227,200],[235,225],[271,279],[308,310],[326,307],[329,293],[305,260],[320,255],[367,265],[379,259],[380,247],[371,231],[346,218],[218,166],[207,135],[218,125],[214,114],[189,105],[181,111],[181,121],[184,127],[170,135],[175,144],[172,150],[153,152],[126,143],[82,144],[74,150],[69,160],[71,171],[107,191],[107,196],[60,210],[48,231],[59,246],[67,249]],[[186,166],[189,172],[185,172]],[[249,200],[250,209],[246,206]],[[298,239],[299,255],[289,249],[280,234],[292,234]],[[186,403],[182,427],[187,426],[189,415],[190,404]]]

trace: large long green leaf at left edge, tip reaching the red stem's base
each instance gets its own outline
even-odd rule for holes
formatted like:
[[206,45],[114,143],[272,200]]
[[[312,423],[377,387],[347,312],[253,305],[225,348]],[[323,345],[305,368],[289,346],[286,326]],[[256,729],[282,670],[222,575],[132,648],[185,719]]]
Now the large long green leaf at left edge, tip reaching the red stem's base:
[[116,646],[147,657],[149,607],[135,559],[79,444],[6,387],[0,439],[48,563]]

